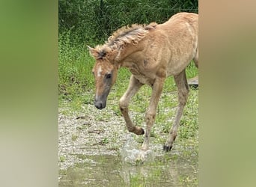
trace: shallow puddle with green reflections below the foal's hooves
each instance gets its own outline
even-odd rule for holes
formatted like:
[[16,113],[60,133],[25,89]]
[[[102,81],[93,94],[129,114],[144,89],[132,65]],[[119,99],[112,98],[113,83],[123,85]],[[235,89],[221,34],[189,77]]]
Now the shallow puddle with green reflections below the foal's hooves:
[[84,162],[60,171],[59,186],[198,186],[198,157],[164,153],[142,165],[124,156],[82,156]]

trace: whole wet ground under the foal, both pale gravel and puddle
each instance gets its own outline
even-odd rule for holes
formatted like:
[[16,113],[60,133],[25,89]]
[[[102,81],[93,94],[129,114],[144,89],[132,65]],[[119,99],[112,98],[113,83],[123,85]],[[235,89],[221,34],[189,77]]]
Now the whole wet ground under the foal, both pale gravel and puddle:
[[177,138],[165,153],[167,134],[156,124],[157,136],[150,138],[141,165],[135,157],[143,136],[129,133],[112,109],[84,105],[73,111],[62,104],[58,123],[59,186],[198,186],[198,132],[193,138]]

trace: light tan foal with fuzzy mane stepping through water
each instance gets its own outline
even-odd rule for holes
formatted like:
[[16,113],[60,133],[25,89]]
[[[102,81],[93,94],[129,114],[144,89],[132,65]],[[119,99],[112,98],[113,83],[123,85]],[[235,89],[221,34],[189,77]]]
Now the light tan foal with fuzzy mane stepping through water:
[[[127,67],[132,73],[129,87],[119,105],[129,132],[145,134],[141,150],[149,148],[150,130],[156,118],[156,107],[165,79],[174,76],[179,105],[163,147],[166,151],[171,150],[189,93],[185,69],[192,60],[198,67],[198,14],[177,13],[163,24],[152,22],[150,25],[123,27],[115,31],[102,46],[88,48],[96,59],[93,68],[96,86],[94,105],[98,109],[106,107],[106,99],[116,81],[118,69]],[[129,101],[142,85],[152,88],[145,132],[133,125],[128,114]]]

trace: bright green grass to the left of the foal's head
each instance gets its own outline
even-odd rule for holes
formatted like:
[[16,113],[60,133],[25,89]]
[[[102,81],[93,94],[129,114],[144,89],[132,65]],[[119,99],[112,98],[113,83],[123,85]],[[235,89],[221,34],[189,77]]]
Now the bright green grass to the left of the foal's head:
[[85,46],[71,43],[69,38],[69,33],[59,37],[58,92],[60,101],[68,100],[76,109],[92,100],[88,93],[94,85],[91,75],[94,60]]

